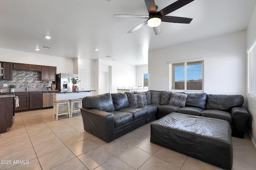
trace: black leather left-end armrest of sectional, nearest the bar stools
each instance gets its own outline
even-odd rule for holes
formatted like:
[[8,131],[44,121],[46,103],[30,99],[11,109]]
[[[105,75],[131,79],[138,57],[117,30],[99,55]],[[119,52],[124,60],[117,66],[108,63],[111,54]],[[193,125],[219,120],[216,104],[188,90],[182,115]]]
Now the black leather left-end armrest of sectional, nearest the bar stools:
[[84,130],[110,142],[114,140],[114,115],[98,109],[81,108]]

